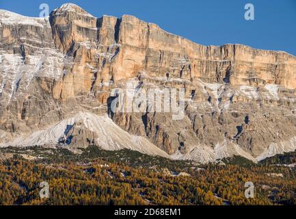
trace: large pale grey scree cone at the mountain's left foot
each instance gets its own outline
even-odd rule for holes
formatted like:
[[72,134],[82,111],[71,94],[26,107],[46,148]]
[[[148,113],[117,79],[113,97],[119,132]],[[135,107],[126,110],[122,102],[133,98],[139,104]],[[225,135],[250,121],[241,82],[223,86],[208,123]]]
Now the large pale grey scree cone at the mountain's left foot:
[[[83,149],[89,145],[97,145],[107,151],[129,149],[148,155],[169,157],[167,153],[151,144],[146,138],[133,136],[120,129],[107,115],[96,116],[87,112],[79,112],[52,127],[34,131],[29,136],[10,142],[10,145],[59,145],[70,149]],[[5,146],[5,144],[0,144],[0,146]]]

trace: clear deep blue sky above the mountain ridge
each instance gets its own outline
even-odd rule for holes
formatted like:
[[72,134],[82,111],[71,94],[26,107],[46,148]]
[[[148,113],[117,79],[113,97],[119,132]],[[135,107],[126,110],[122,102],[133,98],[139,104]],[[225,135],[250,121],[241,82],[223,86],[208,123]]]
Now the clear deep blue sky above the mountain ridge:
[[[96,17],[132,14],[199,44],[238,43],[296,55],[296,0],[0,0],[0,9],[39,16],[41,3],[53,10],[66,2]],[[246,3],[254,5],[254,21],[244,18]]]

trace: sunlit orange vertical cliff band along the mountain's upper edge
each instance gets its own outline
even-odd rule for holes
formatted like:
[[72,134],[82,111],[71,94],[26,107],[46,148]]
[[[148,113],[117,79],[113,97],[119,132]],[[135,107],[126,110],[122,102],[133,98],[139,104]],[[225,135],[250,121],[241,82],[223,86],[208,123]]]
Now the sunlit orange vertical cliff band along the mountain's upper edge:
[[[295,88],[296,59],[284,52],[256,50],[240,44],[204,47],[134,16],[94,18],[77,7],[55,10],[50,21],[57,48],[75,57],[78,66],[74,66],[72,73],[83,72],[90,78],[85,64],[98,68],[95,81],[85,79],[85,86],[74,86],[75,93],[81,89],[89,91],[93,82],[116,82],[136,77],[140,72],[152,77],[169,74],[206,82],[250,86],[275,83]],[[65,80],[70,83],[68,77]],[[66,93],[65,98],[73,97]]]

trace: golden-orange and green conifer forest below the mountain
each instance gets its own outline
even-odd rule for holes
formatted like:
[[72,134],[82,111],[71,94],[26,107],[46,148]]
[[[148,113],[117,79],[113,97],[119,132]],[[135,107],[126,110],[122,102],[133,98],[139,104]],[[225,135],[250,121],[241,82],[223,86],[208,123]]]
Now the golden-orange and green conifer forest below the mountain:
[[[202,165],[94,146],[80,155],[38,147],[23,153],[43,157],[13,153],[1,161],[0,205],[296,204],[295,168],[270,160]],[[43,181],[49,198],[40,197]],[[245,198],[247,181],[254,183],[254,198]]]

